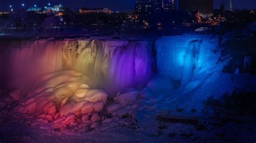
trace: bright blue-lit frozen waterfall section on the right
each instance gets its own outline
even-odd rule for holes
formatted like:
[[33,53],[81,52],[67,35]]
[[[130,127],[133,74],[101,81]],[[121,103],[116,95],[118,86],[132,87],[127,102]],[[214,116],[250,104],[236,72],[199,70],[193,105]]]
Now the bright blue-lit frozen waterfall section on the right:
[[[199,72],[211,73],[223,68],[216,66],[219,40],[211,35],[163,37],[156,42],[158,74],[181,81],[184,85]],[[217,53],[220,54],[220,53]],[[214,56],[215,55],[215,56]]]

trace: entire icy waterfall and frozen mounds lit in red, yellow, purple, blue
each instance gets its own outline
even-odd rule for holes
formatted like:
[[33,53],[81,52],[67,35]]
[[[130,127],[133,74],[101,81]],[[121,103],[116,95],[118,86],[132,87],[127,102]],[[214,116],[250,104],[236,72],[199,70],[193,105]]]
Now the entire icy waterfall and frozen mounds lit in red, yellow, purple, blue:
[[[42,129],[87,131],[132,117],[148,123],[160,110],[178,105],[185,113],[200,110],[203,99],[235,87],[233,77],[221,72],[229,59],[221,57],[219,39],[212,35],[2,45],[7,48],[0,49],[0,84],[11,92],[1,96],[0,110]],[[251,62],[246,56],[245,68]]]

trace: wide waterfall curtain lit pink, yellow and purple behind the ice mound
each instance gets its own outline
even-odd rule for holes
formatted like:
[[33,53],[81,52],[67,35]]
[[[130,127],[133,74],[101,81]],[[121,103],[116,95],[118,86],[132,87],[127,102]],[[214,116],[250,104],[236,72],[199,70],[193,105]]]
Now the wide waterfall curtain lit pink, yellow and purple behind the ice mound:
[[[1,41],[0,41],[1,42]],[[127,40],[24,40],[1,48],[0,76],[8,88],[28,90],[45,73],[76,70],[90,78],[93,87],[120,90],[151,77],[148,41]],[[1,55],[2,55],[1,54]],[[3,86],[1,86],[3,87]]]

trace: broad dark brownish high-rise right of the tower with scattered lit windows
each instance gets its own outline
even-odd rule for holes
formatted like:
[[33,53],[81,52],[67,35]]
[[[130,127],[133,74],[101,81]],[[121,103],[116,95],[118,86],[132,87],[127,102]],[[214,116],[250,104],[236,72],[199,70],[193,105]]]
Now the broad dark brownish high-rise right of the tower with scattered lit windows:
[[213,0],[179,0],[179,10],[199,11],[202,17],[213,15]]

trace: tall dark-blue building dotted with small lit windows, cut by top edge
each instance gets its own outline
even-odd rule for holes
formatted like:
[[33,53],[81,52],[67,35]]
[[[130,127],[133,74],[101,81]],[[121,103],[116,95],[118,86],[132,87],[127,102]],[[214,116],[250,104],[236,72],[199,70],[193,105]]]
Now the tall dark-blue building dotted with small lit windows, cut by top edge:
[[135,9],[140,14],[176,10],[175,0],[135,0]]

